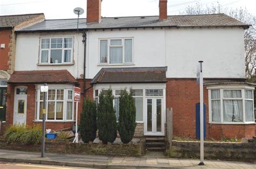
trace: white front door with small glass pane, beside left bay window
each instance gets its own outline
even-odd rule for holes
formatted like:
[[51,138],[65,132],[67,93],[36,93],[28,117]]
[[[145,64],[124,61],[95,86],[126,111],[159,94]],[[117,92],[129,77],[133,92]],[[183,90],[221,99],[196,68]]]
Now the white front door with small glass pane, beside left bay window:
[[15,95],[14,124],[26,124],[26,95]]

